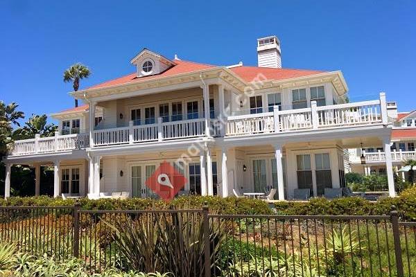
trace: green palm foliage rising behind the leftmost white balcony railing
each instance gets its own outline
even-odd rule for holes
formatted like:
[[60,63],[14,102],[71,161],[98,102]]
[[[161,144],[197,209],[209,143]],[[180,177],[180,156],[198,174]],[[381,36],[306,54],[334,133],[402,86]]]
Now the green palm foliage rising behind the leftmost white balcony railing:
[[35,134],[40,134],[40,136],[53,136],[55,134],[58,126],[53,123],[47,123],[48,117],[46,114],[42,116],[37,116],[32,114],[32,117],[24,123],[25,126],[18,128],[13,132],[12,136],[15,139],[33,139]]

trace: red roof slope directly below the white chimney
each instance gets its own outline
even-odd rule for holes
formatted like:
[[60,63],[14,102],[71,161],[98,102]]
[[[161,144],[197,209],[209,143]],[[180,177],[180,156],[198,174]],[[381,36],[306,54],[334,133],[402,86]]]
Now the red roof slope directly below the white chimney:
[[268,67],[257,66],[238,66],[232,68],[231,70],[237,75],[239,75],[241,78],[243,78],[245,82],[252,82],[256,78],[258,78],[259,74],[262,74],[264,77],[266,77],[267,80],[285,80],[325,72],[318,70],[303,69],[271,69]]

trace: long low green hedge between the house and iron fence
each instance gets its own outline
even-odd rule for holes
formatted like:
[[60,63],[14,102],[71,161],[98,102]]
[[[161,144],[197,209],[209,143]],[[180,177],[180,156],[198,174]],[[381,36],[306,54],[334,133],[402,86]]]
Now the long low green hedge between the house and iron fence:
[[[98,199],[79,200],[83,210],[148,210],[167,208],[201,208],[207,202],[209,209],[220,214],[268,215],[388,215],[394,205],[401,220],[416,221],[416,186],[404,190],[399,197],[386,197],[377,202],[369,202],[360,197],[343,197],[328,200],[313,198],[309,202],[276,202],[274,205],[261,200],[212,197],[182,196],[166,203],[155,199]],[[0,199],[0,206],[71,206],[73,199],[40,197],[10,197]]]

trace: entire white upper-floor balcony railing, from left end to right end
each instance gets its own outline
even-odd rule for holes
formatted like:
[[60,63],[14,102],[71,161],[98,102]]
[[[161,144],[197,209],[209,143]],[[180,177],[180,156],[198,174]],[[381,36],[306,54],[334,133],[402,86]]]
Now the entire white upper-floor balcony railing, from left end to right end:
[[284,134],[305,130],[320,131],[381,125],[388,123],[384,97],[380,100],[322,107],[317,107],[316,102],[313,101],[311,107],[306,109],[279,111],[279,107],[275,106],[270,112],[228,116],[225,120],[209,119],[207,120],[208,132],[205,118],[166,122],[164,118],[157,118],[143,124],[130,120],[129,125],[125,127],[93,130],[89,133],[92,134],[92,140],[89,139],[89,134],[60,135],[57,132],[54,137],[36,137],[15,141],[10,150],[10,156],[64,152],[111,145],[158,143],[206,136],[261,136],[270,133]]

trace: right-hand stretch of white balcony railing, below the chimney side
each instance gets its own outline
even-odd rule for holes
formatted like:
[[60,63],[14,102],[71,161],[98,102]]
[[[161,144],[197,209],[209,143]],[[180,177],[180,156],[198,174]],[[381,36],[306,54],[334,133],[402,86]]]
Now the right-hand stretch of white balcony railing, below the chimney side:
[[273,112],[229,116],[225,136],[354,127],[379,123],[388,123],[384,93],[380,93],[379,100],[322,107],[317,107],[316,102],[312,101],[311,107],[305,109],[279,111],[279,107],[275,106]]

